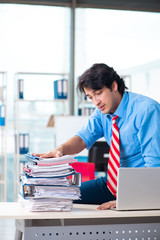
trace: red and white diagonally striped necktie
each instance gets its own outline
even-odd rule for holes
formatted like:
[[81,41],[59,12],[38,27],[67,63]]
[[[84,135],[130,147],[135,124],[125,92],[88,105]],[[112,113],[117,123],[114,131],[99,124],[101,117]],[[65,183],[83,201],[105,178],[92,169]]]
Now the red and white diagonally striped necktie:
[[116,197],[117,193],[117,175],[120,167],[120,150],[119,150],[119,129],[116,124],[118,116],[112,118],[112,139],[109,149],[108,171],[107,171],[107,187]]

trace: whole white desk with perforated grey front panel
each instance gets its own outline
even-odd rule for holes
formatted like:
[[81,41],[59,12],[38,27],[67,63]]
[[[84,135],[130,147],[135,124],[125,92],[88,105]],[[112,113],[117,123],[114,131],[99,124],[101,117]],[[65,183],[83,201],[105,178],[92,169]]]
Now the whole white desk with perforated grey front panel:
[[71,212],[29,212],[0,203],[0,219],[15,219],[15,240],[159,240],[160,210],[97,210],[75,204]]

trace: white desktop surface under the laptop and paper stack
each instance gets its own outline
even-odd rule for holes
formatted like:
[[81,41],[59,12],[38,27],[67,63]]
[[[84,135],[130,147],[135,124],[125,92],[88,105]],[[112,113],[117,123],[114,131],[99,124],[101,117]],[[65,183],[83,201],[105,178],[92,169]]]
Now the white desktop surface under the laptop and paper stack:
[[160,210],[116,211],[97,210],[98,205],[74,204],[71,212],[29,212],[17,202],[0,203],[0,219],[80,219],[80,218],[125,218],[159,217]]

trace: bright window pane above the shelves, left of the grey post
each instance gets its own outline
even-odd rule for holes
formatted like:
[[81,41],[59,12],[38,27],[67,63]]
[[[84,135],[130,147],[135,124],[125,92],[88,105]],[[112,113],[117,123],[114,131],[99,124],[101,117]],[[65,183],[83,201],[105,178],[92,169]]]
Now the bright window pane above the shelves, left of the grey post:
[[[16,72],[69,73],[70,9],[0,4],[0,32],[0,70],[8,73],[12,122]],[[31,86],[31,95],[40,88],[41,83]]]

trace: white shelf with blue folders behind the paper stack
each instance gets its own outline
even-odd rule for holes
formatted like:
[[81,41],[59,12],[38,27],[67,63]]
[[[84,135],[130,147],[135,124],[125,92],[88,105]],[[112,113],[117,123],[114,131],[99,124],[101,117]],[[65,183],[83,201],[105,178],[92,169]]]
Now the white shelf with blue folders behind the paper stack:
[[68,73],[18,72],[15,74],[15,198],[19,175],[25,161],[24,154],[48,151],[48,148],[44,149],[44,146],[49,146],[45,144],[44,136],[50,137],[52,143],[50,149],[54,147],[54,117],[69,115],[68,93]]

